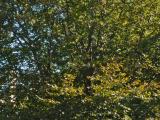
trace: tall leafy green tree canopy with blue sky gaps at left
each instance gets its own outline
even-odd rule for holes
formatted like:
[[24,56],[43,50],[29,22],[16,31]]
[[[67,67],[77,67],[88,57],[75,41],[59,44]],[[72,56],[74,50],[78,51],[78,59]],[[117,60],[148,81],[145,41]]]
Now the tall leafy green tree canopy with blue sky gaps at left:
[[69,87],[83,88],[87,97],[96,96],[97,81],[96,86],[104,87],[104,82],[117,79],[129,84],[159,80],[159,4],[2,0],[0,84],[1,89],[7,86],[0,91],[2,99],[12,108],[58,99],[67,93],[63,90],[69,79]]

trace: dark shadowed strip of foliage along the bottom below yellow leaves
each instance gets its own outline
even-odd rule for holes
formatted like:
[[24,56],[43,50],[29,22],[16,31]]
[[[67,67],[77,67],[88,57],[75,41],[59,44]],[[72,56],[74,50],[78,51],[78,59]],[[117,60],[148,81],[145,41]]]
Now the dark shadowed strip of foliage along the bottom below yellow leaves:
[[57,100],[59,104],[49,107],[36,101],[26,109],[3,106],[0,116],[5,120],[122,120],[126,116],[132,120],[145,120],[160,117],[155,111],[160,108],[159,97],[153,97],[149,102],[135,96],[116,102],[101,96],[59,96]]

